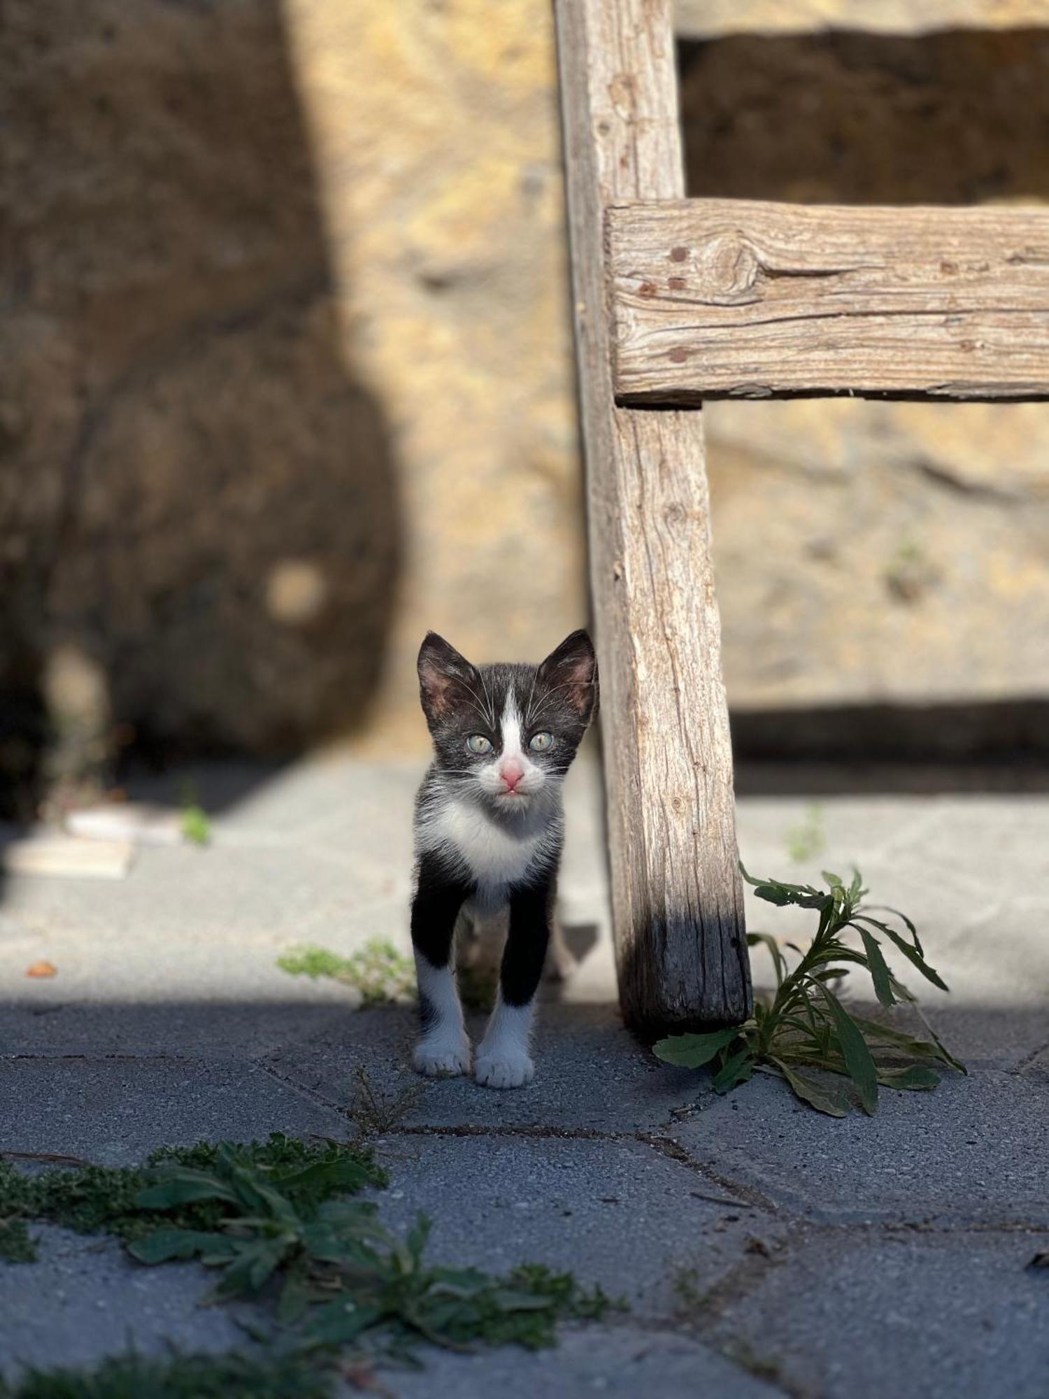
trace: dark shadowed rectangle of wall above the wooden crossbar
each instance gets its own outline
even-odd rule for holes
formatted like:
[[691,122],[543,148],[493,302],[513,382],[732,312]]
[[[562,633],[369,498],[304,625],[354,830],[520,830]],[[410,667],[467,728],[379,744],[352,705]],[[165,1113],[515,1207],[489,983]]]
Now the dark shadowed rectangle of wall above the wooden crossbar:
[[691,197],[1049,199],[1049,29],[734,35],[680,46]]

